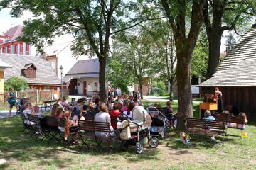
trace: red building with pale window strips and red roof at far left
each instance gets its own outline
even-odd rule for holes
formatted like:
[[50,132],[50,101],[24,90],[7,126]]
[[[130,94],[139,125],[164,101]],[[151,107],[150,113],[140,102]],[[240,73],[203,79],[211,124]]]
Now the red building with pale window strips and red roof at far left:
[[15,26],[7,30],[4,35],[0,35],[1,54],[31,55],[31,45],[17,40],[23,35],[22,30],[22,26]]

